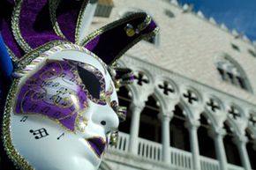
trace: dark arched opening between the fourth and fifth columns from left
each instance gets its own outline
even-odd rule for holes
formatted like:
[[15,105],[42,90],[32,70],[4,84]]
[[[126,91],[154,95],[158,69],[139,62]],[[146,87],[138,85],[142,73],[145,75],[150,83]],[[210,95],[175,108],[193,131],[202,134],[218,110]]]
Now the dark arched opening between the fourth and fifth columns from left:
[[237,145],[233,141],[235,135],[230,129],[228,122],[224,122],[224,129],[227,131],[227,135],[223,139],[227,160],[230,164],[242,166]]

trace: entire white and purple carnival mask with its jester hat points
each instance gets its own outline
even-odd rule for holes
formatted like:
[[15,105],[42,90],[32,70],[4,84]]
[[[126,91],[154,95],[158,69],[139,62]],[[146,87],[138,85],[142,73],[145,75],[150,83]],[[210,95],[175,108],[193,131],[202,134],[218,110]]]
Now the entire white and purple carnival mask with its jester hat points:
[[[44,2],[24,1],[40,4],[33,8],[42,8]],[[15,4],[14,13],[21,4],[22,1]],[[24,9],[31,10],[27,6]],[[81,18],[83,10],[77,12],[78,16],[71,13],[70,18]],[[20,169],[99,167],[109,144],[117,142],[119,121],[125,119],[126,110],[118,105],[116,88],[133,79],[132,70],[117,68],[114,63],[134,43],[157,31],[145,13],[123,18],[85,39],[77,33],[80,24],[71,38],[65,34],[66,29],[60,33],[61,23],[52,32],[31,32],[41,37],[40,42],[34,39],[36,36],[27,38],[22,26],[17,33],[15,25],[13,42],[6,41],[12,58],[19,59],[14,61],[16,68],[4,108],[3,144],[8,157]],[[4,38],[9,32],[3,29],[2,33]],[[23,52],[14,47],[17,43]]]

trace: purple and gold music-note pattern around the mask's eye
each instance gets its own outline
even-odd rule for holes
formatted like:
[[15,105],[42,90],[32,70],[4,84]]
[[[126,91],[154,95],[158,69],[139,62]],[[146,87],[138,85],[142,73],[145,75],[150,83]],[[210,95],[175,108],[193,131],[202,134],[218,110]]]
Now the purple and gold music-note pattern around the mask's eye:
[[20,85],[16,114],[39,114],[58,122],[64,129],[84,131],[87,119],[81,113],[87,109],[87,100],[106,103],[94,99],[88,92],[87,85],[83,84],[87,80],[79,77],[78,65],[91,72],[100,82],[99,91],[105,92],[102,73],[94,66],[68,60],[47,60],[24,85]]

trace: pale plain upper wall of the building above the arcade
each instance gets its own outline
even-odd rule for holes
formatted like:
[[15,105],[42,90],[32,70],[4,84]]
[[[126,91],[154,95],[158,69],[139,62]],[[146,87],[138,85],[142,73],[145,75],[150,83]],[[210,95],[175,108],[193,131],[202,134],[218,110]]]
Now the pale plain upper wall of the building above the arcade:
[[[168,1],[116,0],[114,4],[110,17],[94,18],[90,30],[122,17],[127,11],[147,11],[161,28],[159,43],[141,41],[126,53],[128,57],[153,63],[242,100],[251,103],[256,100],[256,58],[248,52],[248,49],[255,51],[255,47],[246,37],[242,39],[238,33],[216,25],[213,18],[204,18],[200,12],[195,14],[185,10],[187,6],[182,8]],[[174,17],[166,15],[167,10]],[[239,50],[232,48],[231,44]],[[216,57],[222,54],[230,55],[245,70],[253,92],[222,81],[215,65]]]

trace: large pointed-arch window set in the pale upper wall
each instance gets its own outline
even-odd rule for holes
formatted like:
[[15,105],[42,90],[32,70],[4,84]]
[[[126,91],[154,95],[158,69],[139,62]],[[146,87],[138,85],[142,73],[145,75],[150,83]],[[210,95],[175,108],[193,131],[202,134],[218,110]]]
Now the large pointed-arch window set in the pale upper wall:
[[230,55],[224,54],[222,57],[219,57],[216,67],[223,81],[252,92],[252,87],[249,84],[245,71]]

